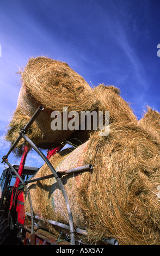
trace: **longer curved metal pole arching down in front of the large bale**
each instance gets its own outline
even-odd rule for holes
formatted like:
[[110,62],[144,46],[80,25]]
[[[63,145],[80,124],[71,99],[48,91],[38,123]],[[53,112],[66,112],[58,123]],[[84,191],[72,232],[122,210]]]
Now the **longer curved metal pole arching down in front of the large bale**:
[[56,170],[52,166],[51,162],[42,153],[42,151],[38,147],[36,147],[36,145],[24,133],[21,133],[21,136],[42,157],[42,159],[46,162],[47,166],[51,169],[51,171],[52,171],[52,173],[54,175],[54,178],[56,178],[56,180],[57,180],[57,183],[58,183],[58,185],[60,187],[60,190],[63,193],[64,199],[65,199],[65,203],[66,203],[67,213],[69,215],[71,245],[75,245],[75,234],[74,234],[74,227],[73,227],[73,217],[72,217],[72,212],[71,212],[71,208],[70,208],[69,199],[67,197],[67,193],[65,191],[63,183],[61,182],[61,180],[60,180]]

